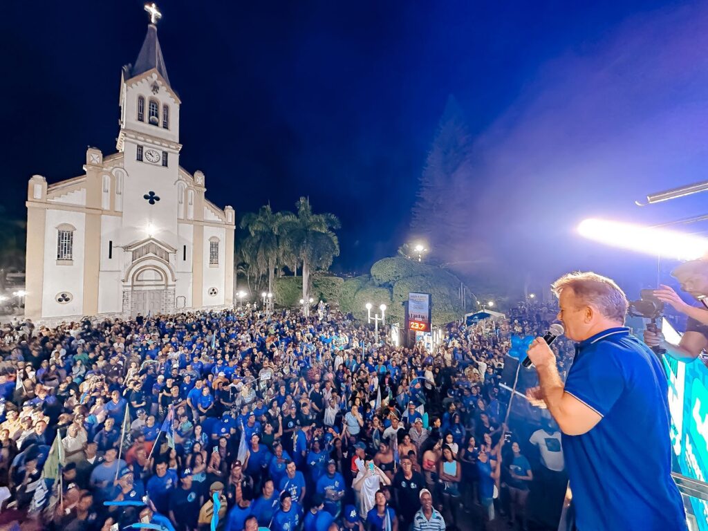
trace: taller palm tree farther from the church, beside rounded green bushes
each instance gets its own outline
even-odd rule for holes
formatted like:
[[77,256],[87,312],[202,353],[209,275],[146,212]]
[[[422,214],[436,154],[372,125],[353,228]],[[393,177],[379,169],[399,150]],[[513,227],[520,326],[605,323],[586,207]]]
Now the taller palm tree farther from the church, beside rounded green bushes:
[[297,215],[284,215],[282,234],[287,244],[302,262],[302,298],[309,299],[309,275],[314,270],[326,270],[339,256],[339,240],[333,229],[341,225],[339,219],[329,212],[315,214],[309,199],[299,198]]

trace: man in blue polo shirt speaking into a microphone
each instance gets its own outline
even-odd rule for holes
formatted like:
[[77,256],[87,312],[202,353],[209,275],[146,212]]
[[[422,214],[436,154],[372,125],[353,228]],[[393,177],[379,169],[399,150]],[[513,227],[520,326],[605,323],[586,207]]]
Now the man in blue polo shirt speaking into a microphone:
[[579,341],[565,385],[542,338],[528,350],[544,403],[563,432],[579,531],[683,531],[671,478],[666,375],[624,326],[627,297],[609,278],[571,273],[554,282],[566,336]]

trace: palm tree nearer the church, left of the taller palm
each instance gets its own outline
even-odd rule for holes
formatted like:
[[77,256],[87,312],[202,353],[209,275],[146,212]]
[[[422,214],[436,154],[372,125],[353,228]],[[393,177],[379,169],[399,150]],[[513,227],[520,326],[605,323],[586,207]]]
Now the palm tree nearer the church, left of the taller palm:
[[287,212],[273,212],[270,205],[249,212],[241,219],[241,229],[248,229],[259,270],[268,270],[268,291],[273,292],[273,273],[280,258],[280,225]]

